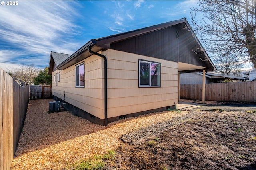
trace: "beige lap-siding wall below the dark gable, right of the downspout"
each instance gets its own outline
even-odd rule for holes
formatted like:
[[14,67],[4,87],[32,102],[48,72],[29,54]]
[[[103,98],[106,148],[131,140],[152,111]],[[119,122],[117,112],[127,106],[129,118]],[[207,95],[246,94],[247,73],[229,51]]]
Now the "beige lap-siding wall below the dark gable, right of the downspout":
[[[178,63],[116,50],[108,59],[108,117],[178,103]],[[138,88],[138,59],[161,63],[161,87]]]

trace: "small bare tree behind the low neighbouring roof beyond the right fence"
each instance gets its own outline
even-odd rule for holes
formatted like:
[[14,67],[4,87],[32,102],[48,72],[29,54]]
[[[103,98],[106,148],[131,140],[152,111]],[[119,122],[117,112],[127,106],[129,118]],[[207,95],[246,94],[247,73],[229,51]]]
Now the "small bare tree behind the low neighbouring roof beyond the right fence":
[[234,72],[239,72],[239,69],[244,66],[244,63],[237,60],[236,55],[223,55],[216,57],[216,68],[217,71],[224,75],[232,75]]

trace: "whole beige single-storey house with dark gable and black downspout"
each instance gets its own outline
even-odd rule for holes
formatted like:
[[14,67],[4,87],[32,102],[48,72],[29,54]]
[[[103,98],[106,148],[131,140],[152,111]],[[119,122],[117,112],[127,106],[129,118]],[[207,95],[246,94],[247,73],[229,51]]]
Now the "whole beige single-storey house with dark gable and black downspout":
[[[72,114],[107,125],[178,104],[179,72],[212,71],[186,18],[51,52],[52,95]],[[195,53],[194,51],[199,53]]]

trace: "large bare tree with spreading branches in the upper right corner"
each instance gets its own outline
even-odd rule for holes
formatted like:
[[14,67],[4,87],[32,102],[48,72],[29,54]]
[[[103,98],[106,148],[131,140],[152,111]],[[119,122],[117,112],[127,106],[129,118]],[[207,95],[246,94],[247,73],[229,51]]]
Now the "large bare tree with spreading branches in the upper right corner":
[[[198,14],[203,15],[197,19]],[[256,68],[255,0],[200,0],[191,16],[194,32],[209,54],[235,54]]]

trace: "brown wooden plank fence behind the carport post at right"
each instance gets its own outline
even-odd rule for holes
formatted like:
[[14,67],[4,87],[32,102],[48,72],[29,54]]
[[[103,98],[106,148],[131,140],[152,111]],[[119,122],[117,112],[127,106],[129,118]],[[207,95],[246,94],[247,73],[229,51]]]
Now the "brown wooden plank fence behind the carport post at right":
[[[181,84],[180,98],[202,100],[202,84]],[[256,102],[256,81],[205,84],[205,100]]]

